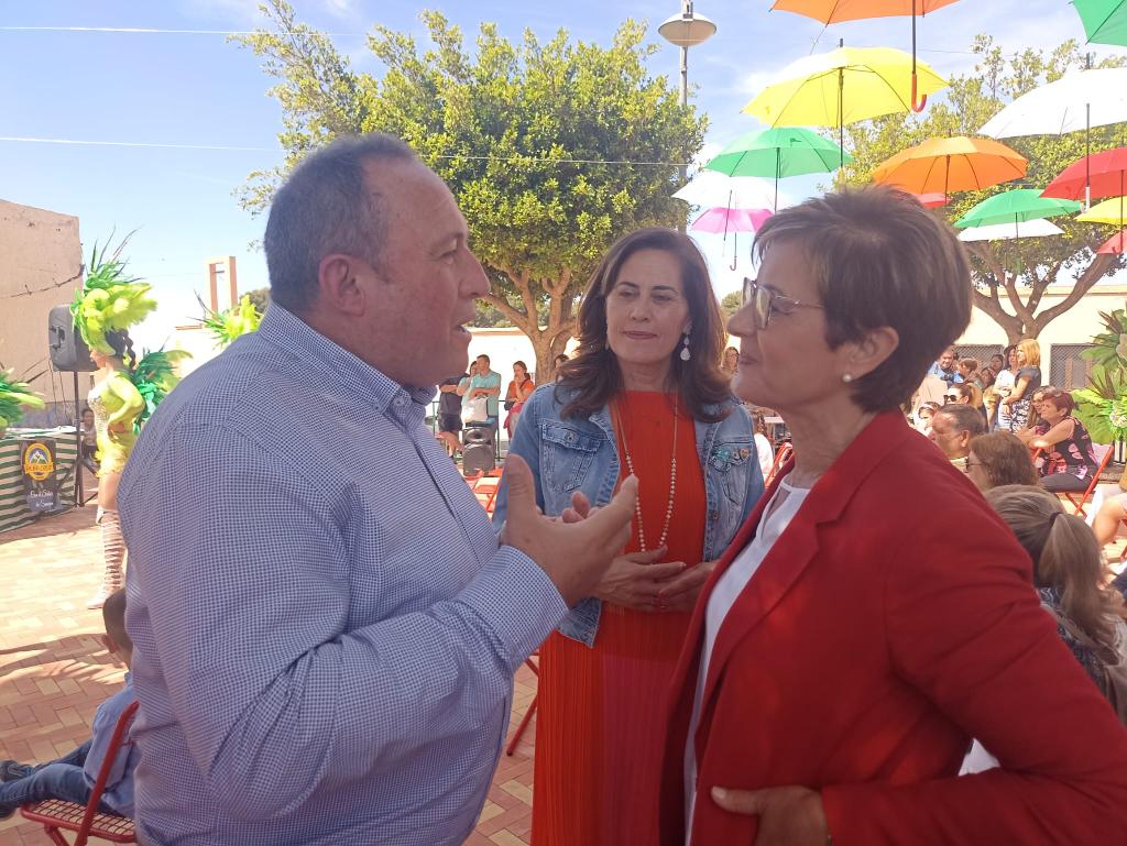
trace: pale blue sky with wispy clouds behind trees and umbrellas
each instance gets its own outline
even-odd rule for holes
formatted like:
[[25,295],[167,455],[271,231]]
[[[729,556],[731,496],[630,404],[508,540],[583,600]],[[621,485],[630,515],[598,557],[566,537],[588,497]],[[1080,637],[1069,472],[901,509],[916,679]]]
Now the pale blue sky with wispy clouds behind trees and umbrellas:
[[[295,0],[301,20],[332,33],[357,70],[380,73],[365,47],[375,23],[420,38],[421,8],[437,8],[471,34],[482,20],[518,38],[525,27],[543,37],[559,27],[576,38],[609,43],[628,17],[657,25],[678,0]],[[824,30],[817,23],[770,12],[770,0],[699,0],[718,34],[690,52],[693,101],[711,118],[710,144],[720,145],[756,122],[739,109],[791,61],[853,46],[908,46],[906,18],[859,21]],[[77,215],[83,255],[95,240],[137,230],[132,270],[157,288],[161,309],[140,339],[160,344],[171,326],[198,317],[194,290],[207,258],[234,255],[243,290],[266,284],[265,261],[249,247],[265,223],[233,196],[251,170],[278,161],[281,109],[266,95],[269,78],[247,50],[221,34],[59,32],[16,27],[136,27],[187,30],[254,29],[252,0],[53,0],[3,5],[0,16],[0,136],[219,146],[169,149],[0,141],[0,198]],[[990,33],[1006,50],[1051,47],[1083,29],[1065,0],[961,0],[920,26],[921,57],[941,73],[974,64],[967,46]],[[677,51],[664,45],[651,70],[676,84]],[[239,149],[243,148],[243,149]],[[811,190],[809,181],[789,188]],[[720,293],[734,290],[718,240],[706,237]],[[744,252],[743,247],[740,252]],[[746,255],[746,253],[745,253]]]

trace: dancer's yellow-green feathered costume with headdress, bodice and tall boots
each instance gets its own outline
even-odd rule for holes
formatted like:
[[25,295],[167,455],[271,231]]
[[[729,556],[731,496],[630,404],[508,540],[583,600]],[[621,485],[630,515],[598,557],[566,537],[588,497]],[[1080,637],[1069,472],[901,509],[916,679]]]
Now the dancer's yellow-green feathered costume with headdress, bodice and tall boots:
[[[126,238],[125,241],[128,239]],[[107,356],[119,356],[127,369],[113,369],[94,386],[87,398],[94,410],[98,439],[98,475],[121,473],[125,469],[141,424],[176,384],[172,367],[183,353],[145,353],[134,359],[132,344],[125,330],[139,323],[157,308],[149,296],[152,286],[127,276],[121,259],[123,241],[107,256],[95,246],[87,268],[86,282],[71,305],[74,326],[90,349]],[[123,584],[125,541],[121,515],[116,508],[99,508],[105,573],[101,590],[87,607],[99,608]]]

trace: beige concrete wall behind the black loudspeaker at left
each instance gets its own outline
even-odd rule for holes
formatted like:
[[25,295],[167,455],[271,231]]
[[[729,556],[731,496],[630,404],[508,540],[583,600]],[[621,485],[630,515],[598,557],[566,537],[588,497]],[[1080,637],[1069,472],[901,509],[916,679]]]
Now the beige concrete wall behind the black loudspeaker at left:
[[[0,199],[0,362],[17,376],[47,367],[47,313],[70,303],[82,282],[78,217]],[[53,377],[53,382],[52,382]],[[32,386],[47,402],[73,403],[73,376],[48,369]],[[89,391],[79,374],[79,393]],[[30,422],[41,422],[29,415]],[[46,422],[46,420],[42,420]]]

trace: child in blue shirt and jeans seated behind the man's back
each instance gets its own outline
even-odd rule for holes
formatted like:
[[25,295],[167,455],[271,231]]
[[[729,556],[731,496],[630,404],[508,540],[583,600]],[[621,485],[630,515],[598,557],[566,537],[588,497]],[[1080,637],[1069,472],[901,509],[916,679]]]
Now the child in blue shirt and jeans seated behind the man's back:
[[[112,594],[106,599],[101,614],[106,623],[103,642],[110,654],[117,656],[128,668],[133,658],[133,642],[125,633],[125,591]],[[98,706],[90,739],[70,755],[38,765],[0,762],[0,780],[3,782],[0,784],[0,819],[10,817],[26,802],[44,799],[62,799],[85,805],[90,800],[117,718],[133,700],[133,686],[126,673],[125,687]],[[137,758],[136,747],[126,739],[117,753],[101,794],[100,811],[123,817],[133,816],[133,771]]]

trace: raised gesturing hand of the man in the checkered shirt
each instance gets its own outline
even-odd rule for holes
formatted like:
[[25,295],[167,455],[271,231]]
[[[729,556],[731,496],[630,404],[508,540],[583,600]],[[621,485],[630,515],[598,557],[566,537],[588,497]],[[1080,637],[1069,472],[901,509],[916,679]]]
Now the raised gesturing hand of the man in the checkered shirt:
[[[526,554],[548,573],[568,606],[591,596],[611,560],[630,541],[630,522],[638,499],[638,480],[628,478],[607,505],[592,510],[573,498],[570,519],[539,513],[532,471],[518,455],[505,460],[508,516],[500,542]],[[586,508],[586,517],[579,509]]]

